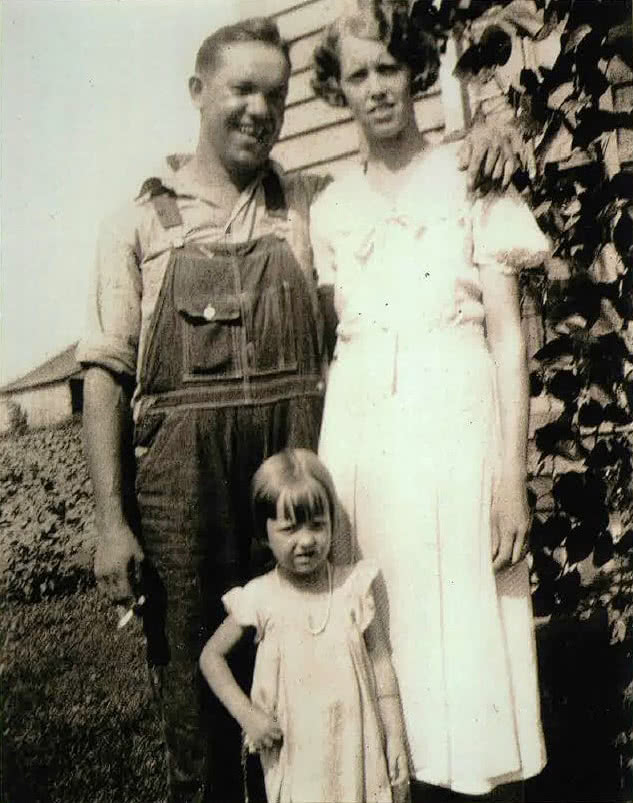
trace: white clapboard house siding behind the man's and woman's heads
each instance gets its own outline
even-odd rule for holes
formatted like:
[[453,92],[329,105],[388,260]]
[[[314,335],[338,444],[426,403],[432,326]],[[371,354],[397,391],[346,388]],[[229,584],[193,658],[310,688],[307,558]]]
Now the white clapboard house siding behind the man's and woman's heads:
[[[270,5],[270,3],[269,3]],[[356,125],[346,108],[332,108],[315,97],[310,85],[312,52],[324,27],[340,13],[342,0],[272,0],[273,14],[290,43],[292,74],[286,118],[273,156],[288,171],[309,170],[336,174],[358,157]],[[452,77],[453,53],[449,49],[437,84],[416,102],[422,131],[431,138],[464,125],[464,97]]]

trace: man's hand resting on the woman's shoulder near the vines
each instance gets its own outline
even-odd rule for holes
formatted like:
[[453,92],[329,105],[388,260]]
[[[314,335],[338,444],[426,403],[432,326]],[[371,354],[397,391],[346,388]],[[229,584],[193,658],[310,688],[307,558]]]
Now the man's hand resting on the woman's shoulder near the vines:
[[492,183],[505,190],[520,164],[521,150],[521,136],[514,127],[493,128],[478,123],[459,150],[458,167],[468,171],[469,189],[482,190]]

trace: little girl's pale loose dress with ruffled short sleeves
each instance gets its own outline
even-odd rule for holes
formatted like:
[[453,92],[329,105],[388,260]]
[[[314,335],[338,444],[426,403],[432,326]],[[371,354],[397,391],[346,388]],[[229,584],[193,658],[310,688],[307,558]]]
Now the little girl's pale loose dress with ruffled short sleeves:
[[376,574],[367,561],[333,569],[330,615],[318,635],[308,627],[305,595],[276,570],[222,598],[240,625],[255,628],[251,699],[284,734],[280,748],[260,754],[268,803],[392,799],[363,636],[374,618]]

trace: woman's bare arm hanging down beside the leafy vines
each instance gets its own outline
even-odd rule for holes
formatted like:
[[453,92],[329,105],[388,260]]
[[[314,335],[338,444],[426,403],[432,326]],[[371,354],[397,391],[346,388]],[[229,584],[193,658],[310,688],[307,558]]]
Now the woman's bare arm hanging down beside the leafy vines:
[[494,266],[479,271],[486,331],[497,374],[502,436],[501,477],[493,499],[492,556],[495,571],[522,560],[527,551],[528,368],[516,276]]

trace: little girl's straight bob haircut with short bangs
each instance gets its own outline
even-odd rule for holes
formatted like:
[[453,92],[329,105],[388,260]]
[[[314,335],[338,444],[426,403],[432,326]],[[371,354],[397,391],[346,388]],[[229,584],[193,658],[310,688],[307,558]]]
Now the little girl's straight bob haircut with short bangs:
[[266,522],[282,515],[301,524],[327,515],[336,522],[336,491],[330,472],[309,449],[286,449],[269,457],[252,482],[253,518],[258,540],[266,539]]

